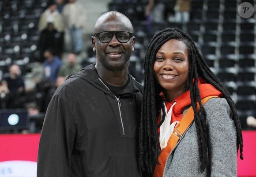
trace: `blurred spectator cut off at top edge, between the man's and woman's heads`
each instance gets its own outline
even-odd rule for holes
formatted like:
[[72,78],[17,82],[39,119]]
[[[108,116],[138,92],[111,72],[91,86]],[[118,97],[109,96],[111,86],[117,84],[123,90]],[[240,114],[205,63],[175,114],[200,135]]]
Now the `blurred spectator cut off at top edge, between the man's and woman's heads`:
[[152,22],[165,21],[165,3],[164,0],[149,0],[145,15],[150,18]]

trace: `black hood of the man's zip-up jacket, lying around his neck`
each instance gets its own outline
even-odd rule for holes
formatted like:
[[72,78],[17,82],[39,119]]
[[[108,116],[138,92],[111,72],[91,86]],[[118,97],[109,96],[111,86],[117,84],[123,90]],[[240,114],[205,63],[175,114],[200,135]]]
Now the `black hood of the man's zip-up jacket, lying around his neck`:
[[[105,94],[114,97],[113,93],[110,91],[110,89],[105,85],[105,83],[102,81],[102,79],[98,76],[98,73],[96,69],[94,68],[94,64],[90,64],[86,67],[84,67],[82,70],[80,70],[78,73],[74,73],[68,76],[68,79],[79,77],[82,78],[84,81],[89,82],[94,87],[98,88]],[[133,94],[139,92],[139,89],[135,87],[135,78],[132,77],[132,75],[128,74],[128,77],[130,77],[130,81],[126,88],[124,88],[123,91],[119,92],[118,95],[120,97],[124,96],[132,96]]]

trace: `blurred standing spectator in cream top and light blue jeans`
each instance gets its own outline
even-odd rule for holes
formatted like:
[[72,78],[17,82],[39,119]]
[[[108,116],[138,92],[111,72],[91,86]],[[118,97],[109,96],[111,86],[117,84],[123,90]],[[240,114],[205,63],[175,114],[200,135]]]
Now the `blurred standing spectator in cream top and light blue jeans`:
[[84,11],[83,5],[77,0],[68,0],[68,4],[63,8],[64,27],[70,34],[71,50],[76,54],[83,50]]

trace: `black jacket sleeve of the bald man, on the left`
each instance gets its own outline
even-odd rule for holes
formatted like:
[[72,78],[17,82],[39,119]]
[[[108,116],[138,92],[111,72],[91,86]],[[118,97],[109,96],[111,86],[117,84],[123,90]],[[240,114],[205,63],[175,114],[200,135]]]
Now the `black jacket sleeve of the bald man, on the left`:
[[54,95],[45,114],[37,177],[71,177],[75,123],[66,99]]

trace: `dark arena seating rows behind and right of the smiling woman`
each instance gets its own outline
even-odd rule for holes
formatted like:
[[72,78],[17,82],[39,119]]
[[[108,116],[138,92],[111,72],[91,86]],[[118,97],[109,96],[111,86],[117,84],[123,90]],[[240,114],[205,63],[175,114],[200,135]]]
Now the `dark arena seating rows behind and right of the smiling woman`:
[[[136,43],[143,46],[140,50],[145,51],[152,35],[166,27],[175,26],[189,33],[207,64],[230,91],[241,117],[241,125],[247,128],[247,116],[256,115],[256,18],[255,15],[251,18],[238,15],[237,7],[245,0],[191,0],[188,23],[168,22],[168,19],[163,23],[151,23],[151,33],[147,19],[144,16],[138,18],[138,14],[143,15],[147,0],[126,1],[129,8],[121,5],[122,0],[113,0],[109,10],[132,17],[136,39],[138,36]],[[168,2],[173,4],[175,1]],[[246,2],[255,5],[253,0]],[[137,4],[139,11],[136,10]],[[140,54],[137,55],[141,60],[139,66],[143,66],[144,53]],[[141,70],[143,68],[137,72]]]

